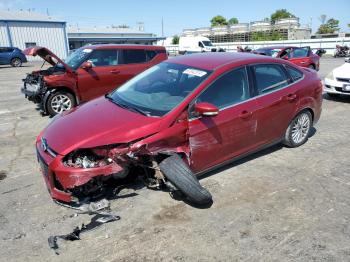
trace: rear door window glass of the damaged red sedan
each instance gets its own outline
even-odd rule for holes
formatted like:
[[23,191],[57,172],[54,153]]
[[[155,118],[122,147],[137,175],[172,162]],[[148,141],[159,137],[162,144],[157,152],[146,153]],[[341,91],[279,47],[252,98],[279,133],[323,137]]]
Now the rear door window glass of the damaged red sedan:
[[258,94],[266,94],[288,85],[288,77],[280,65],[253,66]]

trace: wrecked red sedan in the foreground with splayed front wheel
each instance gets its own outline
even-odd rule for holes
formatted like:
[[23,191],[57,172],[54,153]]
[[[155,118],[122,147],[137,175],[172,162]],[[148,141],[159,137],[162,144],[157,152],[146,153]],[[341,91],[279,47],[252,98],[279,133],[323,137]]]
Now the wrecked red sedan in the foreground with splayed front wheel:
[[61,202],[141,176],[203,204],[212,198],[197,176],[276,143],[302,145],[321,105],[314,70],[245,53],[180,56],[57,115],[37,156]]

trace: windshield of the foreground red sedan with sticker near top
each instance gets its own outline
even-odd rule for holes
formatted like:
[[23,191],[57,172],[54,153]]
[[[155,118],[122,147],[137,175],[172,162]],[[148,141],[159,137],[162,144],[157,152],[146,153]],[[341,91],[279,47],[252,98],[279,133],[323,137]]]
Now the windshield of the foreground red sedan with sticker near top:
[[163,116],[178,106],[210,71],[163,62],[144,71],[107,97],[148,116]]

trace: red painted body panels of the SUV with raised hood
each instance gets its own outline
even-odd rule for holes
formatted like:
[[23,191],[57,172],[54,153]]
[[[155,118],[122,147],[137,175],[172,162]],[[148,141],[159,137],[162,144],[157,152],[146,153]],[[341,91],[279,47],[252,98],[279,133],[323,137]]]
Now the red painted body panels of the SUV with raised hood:
[[[77,101],[86,102],[104,95],[119,87],[135,75],[147,68],[167,59],[165,48],[151,45],[91,45],[82,49],[91,50],[152,50],[158,54],[148,62],[138,64],[120,64],[114,66],[86,67],[83,63],[78,69],[73,70],[62,59],[45,47],[29,47],[23,51],[28,56],[40,56],[51,65],[56,65],[54,60],[62,64],[66,73],[61,75],[48,75],[44,80],[49,88],[57,90],[64,88],[75,95]],[[54,58],[53,59],[51,59]],[[90,63],[91,64],[91,63]],[[84,67],[84,68],[83,68]]]

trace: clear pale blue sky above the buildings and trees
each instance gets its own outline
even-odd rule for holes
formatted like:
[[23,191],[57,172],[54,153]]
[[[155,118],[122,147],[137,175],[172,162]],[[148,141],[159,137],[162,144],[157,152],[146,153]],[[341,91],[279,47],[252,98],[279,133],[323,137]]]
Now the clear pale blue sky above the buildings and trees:
[[110,26],[145,24],[145,31],[164,36],[181,34],[184,28],[210,26],[210,19],[222,15],[240,22],[262,20],[277,9],[285,8],[300,18],[302,25],[320,25],[319,17],[340,21],[343,32],[350,32],[350,0],[0,0],[0,9],[34,9],[68,24],[79,26]]

